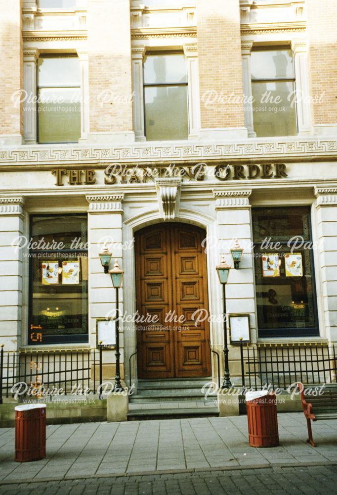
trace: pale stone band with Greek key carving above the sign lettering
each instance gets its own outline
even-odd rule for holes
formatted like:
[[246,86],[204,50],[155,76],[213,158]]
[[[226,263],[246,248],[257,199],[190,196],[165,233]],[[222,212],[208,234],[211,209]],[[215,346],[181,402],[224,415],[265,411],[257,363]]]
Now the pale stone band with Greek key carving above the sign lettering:
[[236,143],[152,143],[129,146],[53,146],[40,148],[23,145],[20,148],[0,148],[0,167],[10,165],[85,165],[121,163],[193,162],[196,160],[324,160],[336,157],[337,140],[325,139],[268,139],[238,141]]

